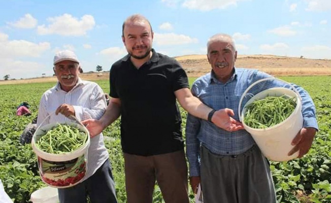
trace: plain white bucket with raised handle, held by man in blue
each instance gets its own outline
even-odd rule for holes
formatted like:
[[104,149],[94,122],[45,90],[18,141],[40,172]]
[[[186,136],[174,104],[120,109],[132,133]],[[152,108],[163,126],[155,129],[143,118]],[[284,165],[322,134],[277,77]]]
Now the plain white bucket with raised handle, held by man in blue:
[[[251,134],[252,138],[254,139],[254,141],[256,142],[257,146],[260,148],[264,156],[266,156],[268,159],[273,161],[287,161],[294,159],[299,155],[299,151],[292,154],[291,156],[287,155],[288,152],[291,151],[291,149],[294,147],[291,145],[292,140],[303,127],[303,116],[301,112],[302,109],[301,96],[299,92],[297,92],[294,87],[293,90],[284,87],[275,87],[275,88],[263,90],[257,93],[256,95],[254,95],[252,98],[250,98],[245,104],[243,111],[242,112],[240,111],[243,97],[246,95],[248,90],[258,82],[266,81],[270,79],[280,80],[276,78],[262,79],[260,81],[253,83],[250,87],[246,89],[239,103],[239,111],[238,111],[239,118],[242,121],[245,130],[247,130]],[[282,121],[277,125],[268,128],[261,128],[261,129],[251,128],[244,123],[244,115],[246,112],[247,105],[253,103],[253,101],[255,100],[260,100],[267,96],[282,96],[284,94],[287,97],[296,98],[295,99],[296,107],[292,112],[292,114],[287,119],[285,119],[284,121]]]

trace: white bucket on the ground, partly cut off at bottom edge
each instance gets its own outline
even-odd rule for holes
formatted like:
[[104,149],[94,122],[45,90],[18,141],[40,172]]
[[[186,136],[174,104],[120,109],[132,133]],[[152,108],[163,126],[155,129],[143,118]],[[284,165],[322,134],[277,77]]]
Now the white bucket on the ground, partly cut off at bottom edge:
[[32,192],[30,201],[33,203],[58,203],[57,189],[52,187],[43,187]]

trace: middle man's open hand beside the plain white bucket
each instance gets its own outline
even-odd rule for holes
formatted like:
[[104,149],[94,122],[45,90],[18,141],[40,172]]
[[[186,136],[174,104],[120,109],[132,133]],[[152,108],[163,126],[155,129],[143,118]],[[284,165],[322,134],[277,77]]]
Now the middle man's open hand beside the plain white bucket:
[[220,109],[216,111],[212,117],[212,122],[217,126],[227,131],[237,131],[244,129],[241,122],[236,121],[231,116],[235,113],[231,109]]

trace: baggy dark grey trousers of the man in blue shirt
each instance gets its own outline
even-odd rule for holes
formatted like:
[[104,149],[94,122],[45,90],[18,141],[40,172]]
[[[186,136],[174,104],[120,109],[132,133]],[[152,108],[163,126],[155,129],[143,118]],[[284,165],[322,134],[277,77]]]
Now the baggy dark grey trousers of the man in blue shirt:
[[204,203],[276,203],[270,163],[255,145],[239,155],[217,155],[201,147]]

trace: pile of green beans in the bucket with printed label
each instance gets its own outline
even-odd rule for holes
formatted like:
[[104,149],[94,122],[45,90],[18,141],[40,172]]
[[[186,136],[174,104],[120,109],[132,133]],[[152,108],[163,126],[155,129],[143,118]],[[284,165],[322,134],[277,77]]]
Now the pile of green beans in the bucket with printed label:
[[62,154],[79,149],[86,141],[86,132],[68,124],[57,124],[48,130],[36,145],[44,152]]

